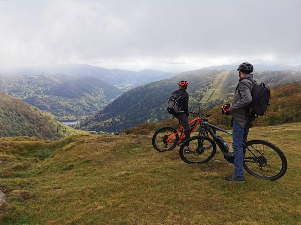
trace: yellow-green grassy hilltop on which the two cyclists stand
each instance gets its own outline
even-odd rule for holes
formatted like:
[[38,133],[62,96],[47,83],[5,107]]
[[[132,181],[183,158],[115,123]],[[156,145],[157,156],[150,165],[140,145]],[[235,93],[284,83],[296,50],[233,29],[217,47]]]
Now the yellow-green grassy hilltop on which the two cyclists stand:
[[[288,170],[245,184],[220,151],[185,164],[178,147],[157,152],[152,135],[75,135],[60,141],[0,139],[0,224],[300,224],[301,124],[250,129],[284,152]],[[231,146],[231,136],[224,136]]]

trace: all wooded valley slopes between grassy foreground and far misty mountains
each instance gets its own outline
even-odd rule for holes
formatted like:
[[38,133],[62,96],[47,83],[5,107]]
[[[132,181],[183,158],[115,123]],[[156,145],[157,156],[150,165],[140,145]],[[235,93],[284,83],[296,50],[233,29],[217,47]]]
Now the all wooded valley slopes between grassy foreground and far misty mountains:
[[[267,115],[256,119],[256,125],[299,122],[299,71],[268,70],[254,71],[253,74],[258,83],[264,82],[272,91]],[[220,105],[233,100],[238,82],[236,70],[200,69],[150,82],[120,95],[120,89],[98,78],[60,74],[2,78],[1,90],[15,98],[4,93],[1,95],[1,137],[29,136],[45,140],[57,140],[77,132],[143,134],[162,123],[171,123],[177,128],[178,122],[171,121],[166,104],[182,79],[189,82],[189,110],[196,111],[200,107],[202,111],[214,115],[213,124],[228,128],[230,118],[221,116]],[[42,119],[37,119],[40,117]],[[67,128],[58,123],[57,118],[81,118],[82,122]]]

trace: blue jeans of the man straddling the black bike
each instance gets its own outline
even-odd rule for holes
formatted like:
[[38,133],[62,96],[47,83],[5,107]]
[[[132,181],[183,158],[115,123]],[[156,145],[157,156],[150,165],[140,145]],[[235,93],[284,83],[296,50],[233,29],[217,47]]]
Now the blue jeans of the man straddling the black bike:
[[233,142],[232,148],[234,151],[234,175],[235,176],[244,176],[244,167],[243,167],[243,160],[244,154],[246,153],[243,150],[243,140],[247,141],[247,137],[249,134],[250,128],[242,128],[239,123],[235,120],[233,121]]

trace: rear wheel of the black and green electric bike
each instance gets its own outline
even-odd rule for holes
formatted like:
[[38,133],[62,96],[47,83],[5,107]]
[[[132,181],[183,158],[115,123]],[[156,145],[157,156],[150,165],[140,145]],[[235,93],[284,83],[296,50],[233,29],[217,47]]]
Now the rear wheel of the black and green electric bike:
[[243,167],[248,173],[266,180],[277,180],[285,174],[287,160],[277,146],[264,140],[251,140],[246,146],[259,158],[247,149]]

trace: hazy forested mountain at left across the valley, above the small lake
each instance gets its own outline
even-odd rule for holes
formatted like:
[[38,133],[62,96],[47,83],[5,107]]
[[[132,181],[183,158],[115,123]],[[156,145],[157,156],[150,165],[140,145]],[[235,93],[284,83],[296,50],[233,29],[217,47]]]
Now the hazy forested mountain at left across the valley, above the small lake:
[[0,76],[0,91],[50,113],[57,120],[78,119],[97,113],[122,93],[92,77],[64,74]]

